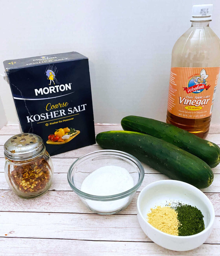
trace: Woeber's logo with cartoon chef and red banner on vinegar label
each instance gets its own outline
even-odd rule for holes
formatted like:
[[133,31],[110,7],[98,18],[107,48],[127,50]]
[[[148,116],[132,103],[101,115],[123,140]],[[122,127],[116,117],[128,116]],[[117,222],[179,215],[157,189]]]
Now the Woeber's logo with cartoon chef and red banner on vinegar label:
[[208,90],[210,85],[206,85],[207,81],[207,77],[209,75],[206,75],[206,71],[205,69],[202,69],[200,72],[200,76],[194,76],[192,77],[189,82],[188,82],[188,87],[183,87],[184,91],[186,91],[187,93],[200,93],[202,92],[204,89]]

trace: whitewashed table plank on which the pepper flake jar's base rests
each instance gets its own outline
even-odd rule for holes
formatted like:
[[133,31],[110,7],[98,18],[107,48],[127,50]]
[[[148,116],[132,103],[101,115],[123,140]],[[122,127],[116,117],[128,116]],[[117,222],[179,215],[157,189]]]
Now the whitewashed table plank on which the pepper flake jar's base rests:
[[[139,194],[140,192],[137,192],[130,205],[118,214],[137,214]],[[220,216],[220,194],[205,193],[205,195],[211,200],[215,215]],[[24,200],[11,190],[0,190],[0,211],[93,213],[84,206],[73,191],[48,191],[39,198]]]

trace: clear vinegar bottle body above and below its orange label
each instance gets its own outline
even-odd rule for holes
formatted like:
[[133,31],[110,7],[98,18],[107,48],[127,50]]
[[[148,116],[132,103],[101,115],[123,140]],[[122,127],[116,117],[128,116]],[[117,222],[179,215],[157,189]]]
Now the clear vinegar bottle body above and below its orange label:
[[[176,41],[173,47],[171,67],[201,67],[201,69],[203,67],[219,67],[220,41],[209,27],[211,20],[191,21],[191,27]],[[211,115],[205,118],[189,119],[167,111],[167,123],[201,138],[205,138],[209,132],[210,121]]]

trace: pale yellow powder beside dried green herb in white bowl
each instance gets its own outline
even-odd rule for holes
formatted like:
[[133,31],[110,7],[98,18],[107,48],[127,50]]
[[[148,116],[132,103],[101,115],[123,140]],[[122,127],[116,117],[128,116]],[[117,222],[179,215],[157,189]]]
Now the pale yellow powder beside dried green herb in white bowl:
[[178,213],[168,207],[157,206],[151,208],[151,212],[148,214],[148,222],[155,227],[167,234],[178,236],[179,221],[177,219]]

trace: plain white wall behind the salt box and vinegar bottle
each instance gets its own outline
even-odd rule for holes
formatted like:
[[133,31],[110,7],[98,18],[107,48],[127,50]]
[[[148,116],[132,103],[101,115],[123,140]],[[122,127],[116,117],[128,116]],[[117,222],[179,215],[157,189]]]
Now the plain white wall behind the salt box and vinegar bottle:
[[[220,37],[220,1],[1,0],[3,60],[68,51],[89,58],[96,123],[125,115],[165,121],[173,45],[191,25],[193,4],[213,3],[211,28]],[[0,77],[9,124],[17,124],[9,85]],[[220,88],[212,123],[220,123]]]

